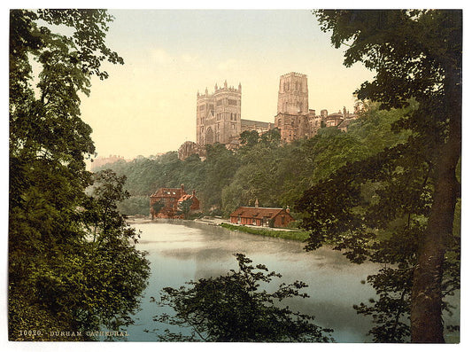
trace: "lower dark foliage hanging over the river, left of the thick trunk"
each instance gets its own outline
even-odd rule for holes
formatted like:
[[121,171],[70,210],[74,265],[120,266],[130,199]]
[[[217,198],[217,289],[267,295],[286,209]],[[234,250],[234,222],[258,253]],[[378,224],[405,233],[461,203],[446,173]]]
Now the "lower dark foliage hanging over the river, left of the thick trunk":
[[[346,164],[306,191],[298,202],[302,227],[311,231],[307,249],[334,245],[352,262],[396,266],[368,278],[379,295],[360,314],[374,318],[369,333],[378,342],[409,338],[410,296],[418,238],[429,214],[431,184],[423,156],[406,145],[386,148]],[[394,284],[395,283],[395,284]]]

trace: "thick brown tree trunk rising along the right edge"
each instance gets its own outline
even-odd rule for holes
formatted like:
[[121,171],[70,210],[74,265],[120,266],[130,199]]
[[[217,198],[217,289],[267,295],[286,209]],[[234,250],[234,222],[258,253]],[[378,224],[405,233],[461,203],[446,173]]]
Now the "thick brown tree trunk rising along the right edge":
[[454,210],[460,192],[456,168],[461,147],[461,90],[455,84],[454,75],[449,77],[449,134],[436,158],[433,204],[428,226],[419,239],[418,262],[414,269],[411,338],[412,342],[419,343],[445,342],[441,284],[445,241],[453,232]]

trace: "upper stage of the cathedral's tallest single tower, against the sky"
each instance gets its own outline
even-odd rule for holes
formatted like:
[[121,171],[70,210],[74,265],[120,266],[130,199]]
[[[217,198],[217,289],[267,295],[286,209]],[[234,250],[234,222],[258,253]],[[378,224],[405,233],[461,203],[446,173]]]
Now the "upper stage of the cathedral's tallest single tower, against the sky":
[[280,77],[277,113],[308,113],[308,79],[306,74],[283,74]]

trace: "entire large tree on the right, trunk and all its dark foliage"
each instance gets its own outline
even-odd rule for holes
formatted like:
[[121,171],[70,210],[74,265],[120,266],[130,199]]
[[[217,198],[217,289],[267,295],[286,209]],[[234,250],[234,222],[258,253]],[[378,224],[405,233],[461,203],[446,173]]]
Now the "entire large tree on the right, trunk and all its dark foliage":
[[[399,317],[406,316],[412,341],[444,342],[442,299],[459,286],[445,279],[454,277],[453,267],[459,264],[445,253],[458,248],[453,220],[459,197],[462,13],[315,14],[321,30],[332,32],[337,48],[347,44],[345,66],[361,62],[375,70],[375,79],[356,91],[358,98],[378,102],[382,110],[406,108],[391,125],[411,134],[379,139],[360,133],[363,141],[374,142],[374,153],[323,176],[304,193],[298,208],[312,231],[308,248],[329,240],[352,262],[398,266],[388,275],[383,270],[371,277],[380,299],[373,307],[358,306],[361,314],[374,318],[375,340],[405,340],[408,329]],[[376,117],[382,114],[351,130],[380,126]],[[394,145],[384,148],[385,141]]]

